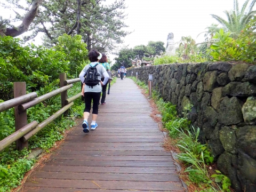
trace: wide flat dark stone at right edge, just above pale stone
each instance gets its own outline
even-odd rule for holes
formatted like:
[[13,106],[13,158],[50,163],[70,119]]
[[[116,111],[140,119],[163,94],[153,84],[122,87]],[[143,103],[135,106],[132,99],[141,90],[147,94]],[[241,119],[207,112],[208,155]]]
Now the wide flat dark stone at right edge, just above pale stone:
[[230,82],[222,90],[223,96],[250,97],[256,95],[256,85],[245,82]]

